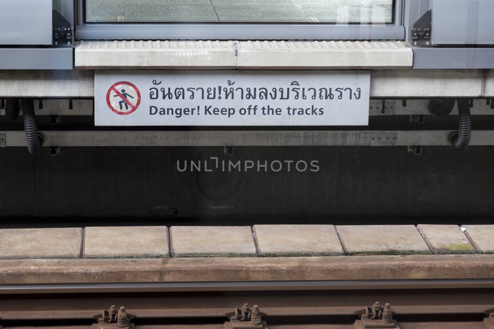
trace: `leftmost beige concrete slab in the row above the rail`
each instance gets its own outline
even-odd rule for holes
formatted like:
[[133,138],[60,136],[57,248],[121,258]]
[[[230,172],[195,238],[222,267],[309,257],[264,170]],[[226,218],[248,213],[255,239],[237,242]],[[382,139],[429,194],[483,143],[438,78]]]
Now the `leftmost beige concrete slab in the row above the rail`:
[[82,228],[0,230],[0,259],[81,258]]

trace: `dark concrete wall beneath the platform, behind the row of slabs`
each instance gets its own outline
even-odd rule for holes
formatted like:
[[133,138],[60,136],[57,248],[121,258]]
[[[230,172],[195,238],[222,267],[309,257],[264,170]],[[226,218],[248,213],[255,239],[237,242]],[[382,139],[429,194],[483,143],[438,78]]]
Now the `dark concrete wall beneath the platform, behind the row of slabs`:
[[[182,166],[210,156],[268,164],[318,160],[320,170],[177,170],[177,160]],[[65,147],[57,156],[43,148],[38,159],[27,148],[7,147],[0,148],[0,217],[4,223],[11,217],[172,217],[166,220],[449,218],[461,224],[494,215],[493,160],[492,146],[424,147],[420,156],[406,147],[235,147],[232,156],[223,147]]]

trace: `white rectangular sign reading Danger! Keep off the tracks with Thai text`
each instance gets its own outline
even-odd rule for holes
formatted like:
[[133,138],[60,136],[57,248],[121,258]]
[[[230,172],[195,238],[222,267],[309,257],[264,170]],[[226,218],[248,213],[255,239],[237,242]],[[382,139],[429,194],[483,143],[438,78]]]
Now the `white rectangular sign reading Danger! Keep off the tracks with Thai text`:
[[369,99],[359,70],[94,73],[96,126],[362,126]]

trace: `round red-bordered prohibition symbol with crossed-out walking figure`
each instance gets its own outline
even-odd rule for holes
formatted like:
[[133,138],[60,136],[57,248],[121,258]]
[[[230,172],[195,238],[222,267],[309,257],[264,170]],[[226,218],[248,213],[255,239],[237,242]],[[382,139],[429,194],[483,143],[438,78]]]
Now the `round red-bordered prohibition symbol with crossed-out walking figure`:
[[141,103],[139,89],[130,82],[114,83],[106,93],[106,102],[110,110],[117,114],[130,114],[137,110]]

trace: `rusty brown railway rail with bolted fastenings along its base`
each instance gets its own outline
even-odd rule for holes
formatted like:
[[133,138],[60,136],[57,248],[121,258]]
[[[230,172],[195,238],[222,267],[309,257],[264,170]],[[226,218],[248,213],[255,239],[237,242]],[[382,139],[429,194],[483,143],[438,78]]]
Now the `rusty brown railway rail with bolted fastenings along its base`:
[[0,324],[3,329],[492,329],[493,288],[494,279],[1,285]]

